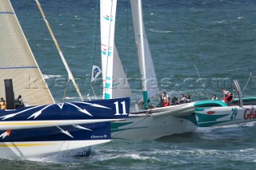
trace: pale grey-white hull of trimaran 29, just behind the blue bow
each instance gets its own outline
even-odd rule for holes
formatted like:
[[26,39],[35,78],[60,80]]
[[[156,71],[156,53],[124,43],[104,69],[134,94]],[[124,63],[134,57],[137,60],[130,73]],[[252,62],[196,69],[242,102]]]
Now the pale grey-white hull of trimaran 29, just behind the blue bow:
[[[171,109],[177,106],[178,105],[170,106],[168,108]],[[179,107],[181,107],[181,105],[179,105]],[[121,139],[151,140],[177,133],[194,132],[198,128],[198,126],[195,125],[192,120],[185,119],[184,117],[174,117],[173,112],[174,111],[172,110],[172,112],[162,111],[160,113],[151,114],[130,113],[129,118],[127,118],[125,121],[114,121],[111,123],[111,137]],[[187,117],[193,118],[194,116],[190,115]]]

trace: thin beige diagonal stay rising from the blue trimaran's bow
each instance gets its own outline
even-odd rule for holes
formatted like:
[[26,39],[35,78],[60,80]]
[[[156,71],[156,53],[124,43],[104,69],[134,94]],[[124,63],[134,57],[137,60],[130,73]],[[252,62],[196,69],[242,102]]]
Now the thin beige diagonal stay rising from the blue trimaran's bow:
[[[79,97],[81,98],[81,101],[83,101],[82,94],[80,93],[80,90],[79,90],[79,88],[78,88],[78,85],[77,85],[76,82],[74,81],[74,76],[73,76],[73,74],[71,73],[71,70],[70,70],[69,65],[67,65],[67,62],[66,62],[66,59],[65,59],[65,57],[64,57],[64,55],[63,55],[63,53],[62,53],[62,50],[61,50],[61,48],[59,47],[58,42],[57,42],[57,39],[56,39],[55,36],[54,36],[54,32],[53,32],[53,30],[51,30],[51,28],[50,28],[50,24],[49,24],[49,22],[48,22],[47,19],[46,19],[46,15],[44,14],[44,12],[43,12],[43,10],[42,10],[41,4],[38,2],[38,0],[35,0],[35,2],[37,2],[37,4],[38,4],[38,8],[39,8],[39,10],[40,10],[40,12],[41,12],[41,14],[42,14],[42,18],[43,18],[44,21],[46,22],[46,26],[47,26],[47,28],[48,28],[48,30],[49,30],[49,32],[50,32],[51,37],[52,37],[53,40],[54,40],[54,44],[56,45],[56,47],[57,47],[57,49],[58,49],[58,53],[59,53],[59,55],[60,55],[61,58],[62,58],[62,62],[63,62],[63,64],[65,65],[66,71],[67,71],[68,76],[69,76],[69,81],[67,82],[67,84],[70,83],[70,80],[73,82],[74,88],[77,90],[77,93],[78,93]],[[67,86],[66,86],[66,88],[67,88]],[[64,98],[65,98],[65,95],[66,95],[66,89],[65,89],[65,93],[64,93],[63,100],[64,100]]]

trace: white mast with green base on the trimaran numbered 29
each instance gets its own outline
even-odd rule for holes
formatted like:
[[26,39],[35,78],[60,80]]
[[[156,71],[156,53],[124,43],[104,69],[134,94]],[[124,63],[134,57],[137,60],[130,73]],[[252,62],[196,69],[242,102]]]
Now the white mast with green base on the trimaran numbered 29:
[[145,49],[144,49],[144,32],[143,32],[143,18],[142,18],[142,0],[138,0],[138,21],[139,21],[139,35],[140,35],[140,45],[142,53],[142,90],[143,90],[143,101],[144,109],[148,109],[148,97],[147,97],[147,87],[146,87],[146,61],[145,61]]

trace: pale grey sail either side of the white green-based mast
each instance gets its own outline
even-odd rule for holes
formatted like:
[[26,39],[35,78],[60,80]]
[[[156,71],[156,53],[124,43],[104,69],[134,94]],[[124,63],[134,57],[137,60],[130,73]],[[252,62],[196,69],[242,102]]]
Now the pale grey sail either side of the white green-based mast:
[[[156,77],[154,71],[154,64],[152,61],[151,53],[150,53],[150,45],[146,37],[145,26],[142,23],[142,32],[144,44],[141,45],[141,34],[140,34],[140,21],[139,21],[139,13],[140,9],[138,7],[138,0],[130,0],[130,6],[132,10],[133,22],[134,22],[134,37],[136,42],[136,48],[138,52],[138,63],[140,66],[140,72],[142,74],[142,89],[144,90],[146,86],[147,97],[154,97],[159,94],[158,88],[158,79]],[[142,56],[142,48],[144,49],[144,56]],[[145,61],[145,69],[143,68],[143,60]],[[146,81],[144,83],[143,81]]]

